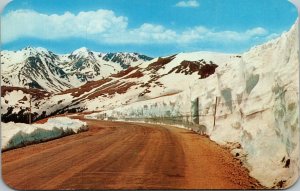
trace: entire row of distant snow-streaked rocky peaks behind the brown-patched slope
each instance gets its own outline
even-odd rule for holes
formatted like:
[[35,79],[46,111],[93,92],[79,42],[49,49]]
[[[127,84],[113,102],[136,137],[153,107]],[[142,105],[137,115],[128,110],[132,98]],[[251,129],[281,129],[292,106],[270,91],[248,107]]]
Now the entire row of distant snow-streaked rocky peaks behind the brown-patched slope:
[[1,51],[2,85],[59,92],[99,80],[151,58],[137,53],[98,53],[80,48],[58,55],[44,48]]

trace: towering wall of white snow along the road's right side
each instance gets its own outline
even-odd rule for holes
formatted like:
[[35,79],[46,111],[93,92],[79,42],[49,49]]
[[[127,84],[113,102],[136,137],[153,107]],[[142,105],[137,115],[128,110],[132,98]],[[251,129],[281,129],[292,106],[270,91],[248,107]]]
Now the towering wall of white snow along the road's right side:
[[298,34],[297,22],[180,94],[87,117],[192,127],[228,146],[264,186],[291,186],[299,175]]

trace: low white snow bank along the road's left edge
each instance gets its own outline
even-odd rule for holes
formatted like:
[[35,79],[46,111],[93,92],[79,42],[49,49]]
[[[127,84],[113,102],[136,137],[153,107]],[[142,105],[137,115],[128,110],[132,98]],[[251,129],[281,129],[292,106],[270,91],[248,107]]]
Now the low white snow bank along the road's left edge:
[[88,130],[86,122],[68,117],[50,118],[44,124],[1,123],[2,150],[40,143]]

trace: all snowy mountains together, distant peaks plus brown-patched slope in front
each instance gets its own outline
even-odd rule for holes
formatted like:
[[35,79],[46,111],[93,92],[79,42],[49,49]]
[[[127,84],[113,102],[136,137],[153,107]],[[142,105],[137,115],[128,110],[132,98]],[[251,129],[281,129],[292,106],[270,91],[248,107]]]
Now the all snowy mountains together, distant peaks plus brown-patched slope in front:
[[31,47],[2,51],[2,120],[28,120],[29,95],[33,120],[37,120],[176,94],[214,74],[219,65],[240,59],[239,55],[211,52],[152,59],[138,53],[99,53],[87,48],[66,55]]

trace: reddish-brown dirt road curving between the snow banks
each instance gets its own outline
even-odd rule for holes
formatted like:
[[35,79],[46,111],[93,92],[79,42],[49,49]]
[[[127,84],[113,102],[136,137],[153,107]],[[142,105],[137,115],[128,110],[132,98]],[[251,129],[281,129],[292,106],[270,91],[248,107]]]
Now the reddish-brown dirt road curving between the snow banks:
[[90,130],[2,153],[15,189],[259,188],[229,151],[193,132],[86,120]]

